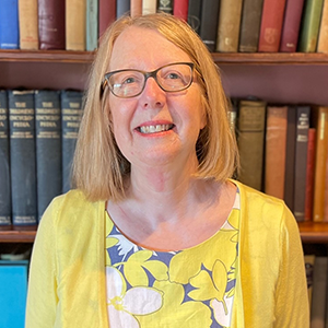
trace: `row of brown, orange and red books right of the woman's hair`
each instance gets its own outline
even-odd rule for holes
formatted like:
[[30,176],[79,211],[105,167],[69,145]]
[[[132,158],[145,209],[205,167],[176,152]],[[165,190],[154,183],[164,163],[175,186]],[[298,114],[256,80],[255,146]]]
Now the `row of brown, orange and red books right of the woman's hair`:
[[283,199],[298,222],[328,222],[328,106],[232,104],[237,179]]

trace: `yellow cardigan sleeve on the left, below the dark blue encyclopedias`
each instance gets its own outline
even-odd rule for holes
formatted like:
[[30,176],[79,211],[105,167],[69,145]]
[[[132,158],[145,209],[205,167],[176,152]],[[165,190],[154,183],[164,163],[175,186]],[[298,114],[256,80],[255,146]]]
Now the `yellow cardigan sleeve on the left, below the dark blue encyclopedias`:
[[55,325],[56,279],[56,207],[54,202],[40,220],[30,266],[25,328],[50,328]]

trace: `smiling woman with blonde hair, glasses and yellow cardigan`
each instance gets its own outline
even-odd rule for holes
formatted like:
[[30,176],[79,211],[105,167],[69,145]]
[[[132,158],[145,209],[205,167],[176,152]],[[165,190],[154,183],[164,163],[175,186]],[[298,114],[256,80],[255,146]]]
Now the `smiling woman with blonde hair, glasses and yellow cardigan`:
[[38,229],[26,328],[308,327],[295,219],[230,179],[226,108],[187,24],[113,24],[86,94],[77,190]]

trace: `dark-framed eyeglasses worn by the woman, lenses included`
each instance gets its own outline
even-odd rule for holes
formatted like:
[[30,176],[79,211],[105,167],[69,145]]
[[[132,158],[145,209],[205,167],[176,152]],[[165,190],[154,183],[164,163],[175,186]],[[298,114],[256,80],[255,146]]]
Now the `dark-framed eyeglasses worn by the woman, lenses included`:
[[106,73],[102,81],[101,97],[108,85],[110,92],[120,98],[140,95],[149,78],[153,78],[165,92],[178,92],[192,83],[194,63],[175,62],[160,67],[152,72],[124,69]]

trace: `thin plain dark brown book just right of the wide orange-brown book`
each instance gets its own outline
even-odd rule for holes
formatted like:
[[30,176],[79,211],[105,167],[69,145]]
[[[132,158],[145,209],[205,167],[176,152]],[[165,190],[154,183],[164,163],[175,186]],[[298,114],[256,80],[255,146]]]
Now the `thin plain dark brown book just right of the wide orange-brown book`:
[[295,187],[296,105],[288,107],[288,131],[285,145],[284,202],[294,211]]

